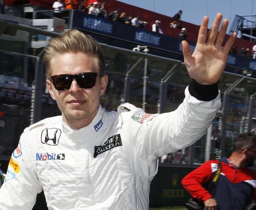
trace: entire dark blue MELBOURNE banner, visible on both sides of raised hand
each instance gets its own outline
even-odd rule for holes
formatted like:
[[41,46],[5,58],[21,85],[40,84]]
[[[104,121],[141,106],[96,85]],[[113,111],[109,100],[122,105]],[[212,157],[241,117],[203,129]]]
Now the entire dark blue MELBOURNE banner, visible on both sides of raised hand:
[[[157,49],[163,49],[182,54],[182,46],[179,38],[151,32],[134,26],[129,26],[118,21],[74,11],[73,28],[85,30],[88,33],[106,35],[108,37],[129,41],[137,45],[147,45]],[[191,51],[195,49],[195,43],[189,43]],[[227,65],[239,69],[256,71],[256,60],[241,55],[229,54]]]

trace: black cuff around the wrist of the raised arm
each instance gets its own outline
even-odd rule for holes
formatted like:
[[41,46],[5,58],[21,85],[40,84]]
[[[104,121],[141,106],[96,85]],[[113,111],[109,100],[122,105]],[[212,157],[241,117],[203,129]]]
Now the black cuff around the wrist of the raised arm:
[[199,101],[212,101],[218,95],[218,82],[212,85],[201,85],[192,79],[189,84],[189,93]]

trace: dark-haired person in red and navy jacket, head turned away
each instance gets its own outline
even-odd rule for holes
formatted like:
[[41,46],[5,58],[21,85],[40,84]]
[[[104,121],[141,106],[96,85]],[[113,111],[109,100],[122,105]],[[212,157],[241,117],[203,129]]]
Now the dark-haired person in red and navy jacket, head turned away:
[[[207,161],[186,175],[181,183],[194,198],[204,201],[206,210],[244,210],[256,199],[256,135],[241,133],[229,158],[221,158],[221,175],[209,192],[204,186],[218,170],[218,160]],[[218,208],[217,208],[218,207]]]

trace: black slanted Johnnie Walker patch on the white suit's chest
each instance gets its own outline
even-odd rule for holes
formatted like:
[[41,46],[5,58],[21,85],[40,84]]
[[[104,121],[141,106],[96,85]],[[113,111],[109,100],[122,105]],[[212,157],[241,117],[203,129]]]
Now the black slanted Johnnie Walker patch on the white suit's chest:
[[122,146],[120,134],[113,135],[103,145],[94,147],[93,157],[96,158],[99,154],[120,146]]

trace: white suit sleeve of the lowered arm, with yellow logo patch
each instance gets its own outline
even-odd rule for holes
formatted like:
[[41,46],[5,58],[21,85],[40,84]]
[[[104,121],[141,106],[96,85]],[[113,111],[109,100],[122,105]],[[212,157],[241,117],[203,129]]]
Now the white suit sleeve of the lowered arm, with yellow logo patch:
[[9,161],[5,181],[0,188],[1,210],[31,210],[37,194],[42,191],[26,139],[26,133],[23,133]]

